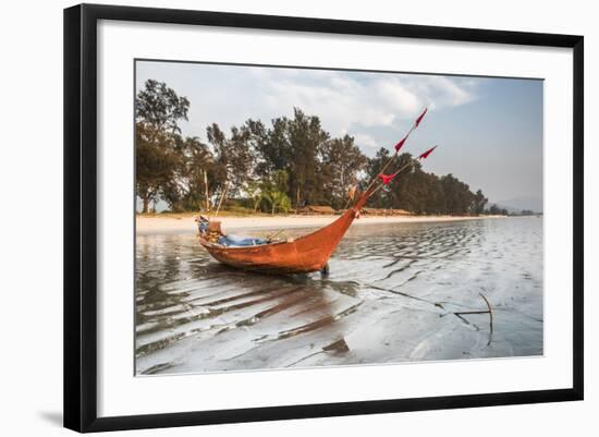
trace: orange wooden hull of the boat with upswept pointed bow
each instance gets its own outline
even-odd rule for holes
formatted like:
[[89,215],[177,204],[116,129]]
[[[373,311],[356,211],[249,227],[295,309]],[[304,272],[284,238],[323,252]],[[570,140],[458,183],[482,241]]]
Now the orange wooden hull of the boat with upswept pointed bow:
[[215,259],[244,270],[283,275],[322,271],[371,193],[372,190],[368,190],[362,194],[354,206],[332,223],[293,241],[228,247],[209,242],[201,233],[199,241]]

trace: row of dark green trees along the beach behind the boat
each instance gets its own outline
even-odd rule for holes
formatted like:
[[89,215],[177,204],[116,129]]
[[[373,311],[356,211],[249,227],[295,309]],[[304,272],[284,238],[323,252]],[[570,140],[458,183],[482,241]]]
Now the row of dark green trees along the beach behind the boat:
[[[223,131],[206,129],[206,141],[184,137],[190,101],[148,80],[135,105],[136,192],[142,211],[158,201],[172,211],[213,208],[220,198],[254,211],[283,211],[304,205],[346,205],[354,185],[365,190],[389,159],[380,148],[366,157],[350,135],[333,137],[320,119],[294,108],[267,125],[246,120]],[[396,167],[412,160],[396,159]],[[368,206],[407,209],[415,214],[484,214],[488,199],[452,174],[425,172],[419,162],[370,198]]]

